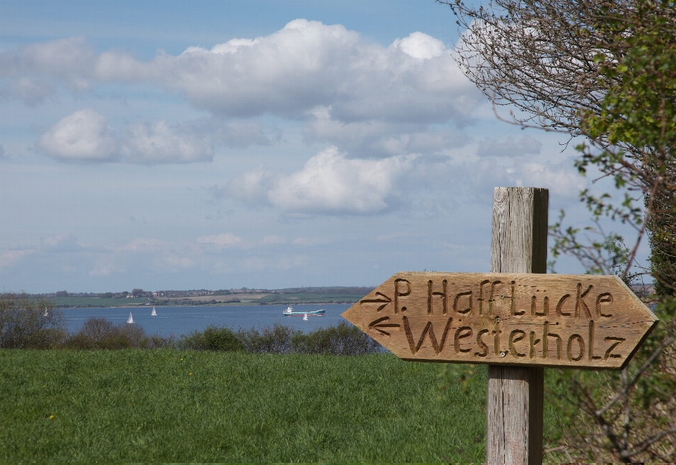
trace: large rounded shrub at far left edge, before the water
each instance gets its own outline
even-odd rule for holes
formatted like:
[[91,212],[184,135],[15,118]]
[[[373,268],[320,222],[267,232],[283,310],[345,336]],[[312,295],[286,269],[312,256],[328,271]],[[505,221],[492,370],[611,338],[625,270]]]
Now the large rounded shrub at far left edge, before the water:
[[44,298],[0,295],[0,348],[46,349],[66,337],[61,312]]

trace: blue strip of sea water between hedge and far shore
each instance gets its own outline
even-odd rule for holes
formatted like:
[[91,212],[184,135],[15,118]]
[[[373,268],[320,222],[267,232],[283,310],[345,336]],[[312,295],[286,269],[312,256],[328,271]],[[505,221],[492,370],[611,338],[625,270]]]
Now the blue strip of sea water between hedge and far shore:
[[89,318],[105,318],[113,324],[124,323],[129,318],[129,313],[134,317],[134,324],[142,326],[146,334],[158,333],[162,336],[181,336],[191,331],[203,331],[209,325],[230,326],[237,329],[262,329],[265,326],[273,326],[275,323],[291,326],[303,332],[315,329],[335,326],[339,321],[347,321],[340,316],[347,310],[348,304],[327,305],[296,305],[295,312],[325,309],[323,317],[308,316],[307,321],[303,317],[284,317],[284,311],[288,305],[198,305],[195,307],[155,307],[156,317],[151,316],[152,306],[144,307],[113,307],[113,308],[61,308],[65,320],[65,327],[70,332],[79,331],[84,321]]

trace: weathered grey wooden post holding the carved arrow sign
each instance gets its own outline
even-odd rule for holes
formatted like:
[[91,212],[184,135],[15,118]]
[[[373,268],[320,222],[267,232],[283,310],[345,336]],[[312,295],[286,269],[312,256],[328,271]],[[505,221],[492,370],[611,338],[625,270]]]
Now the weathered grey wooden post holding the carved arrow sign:
[[[546,273],[549,191],[496,187],[491,272]],[[486,461],[542,464],[544,369],[489,365]]]

